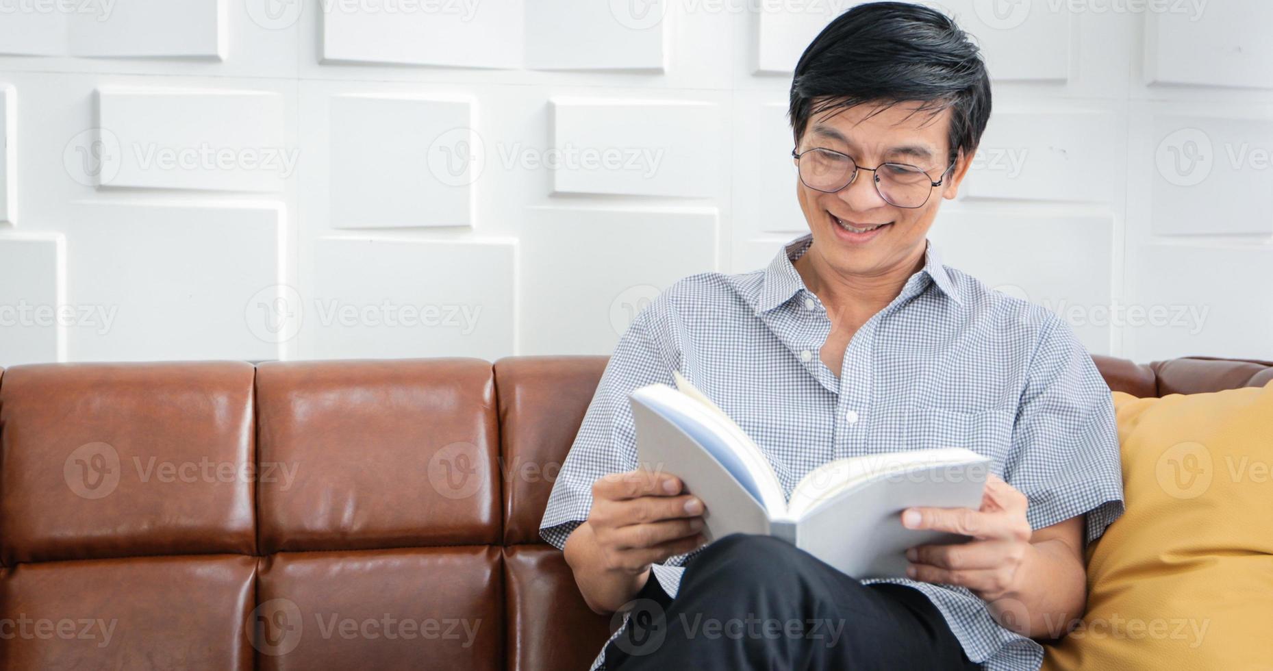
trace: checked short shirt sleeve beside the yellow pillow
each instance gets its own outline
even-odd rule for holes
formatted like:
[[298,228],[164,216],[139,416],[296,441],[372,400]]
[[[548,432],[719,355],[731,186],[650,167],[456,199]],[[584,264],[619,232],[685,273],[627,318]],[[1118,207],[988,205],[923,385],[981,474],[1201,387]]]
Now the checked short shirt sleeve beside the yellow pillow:
[[1012,429],[1004,480],[1029,499],[1030,526],[1087,516],[1091,542],[1123,514],[1114,402],[1091,355],[1060,318],[1044,327]]

